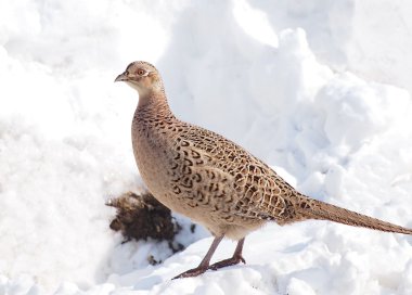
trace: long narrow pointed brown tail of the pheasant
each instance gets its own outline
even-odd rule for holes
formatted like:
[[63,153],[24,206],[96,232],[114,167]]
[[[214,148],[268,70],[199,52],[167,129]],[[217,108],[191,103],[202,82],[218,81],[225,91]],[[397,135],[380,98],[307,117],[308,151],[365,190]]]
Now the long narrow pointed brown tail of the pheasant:
[[304,218],[331,220],[352,227],[362,227],[379,231],[412,234],[412,229],[402,228],[321,201],[305,197],[301,200],[301,204],[298,206],[298,213],[304,216]]

